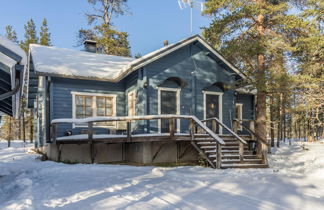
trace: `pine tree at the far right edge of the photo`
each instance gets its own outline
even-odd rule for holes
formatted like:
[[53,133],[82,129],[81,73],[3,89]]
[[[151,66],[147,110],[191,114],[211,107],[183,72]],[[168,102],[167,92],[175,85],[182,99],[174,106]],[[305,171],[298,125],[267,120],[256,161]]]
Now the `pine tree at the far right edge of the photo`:
[[[324,137],[324,4],[306,0],[301,16],[310,20],[312,30],[295,41],[298,71],[294,77],[296,88],[295,122],[303,124],[304,138]],[[301,136],[300,125],[299,136]]]

